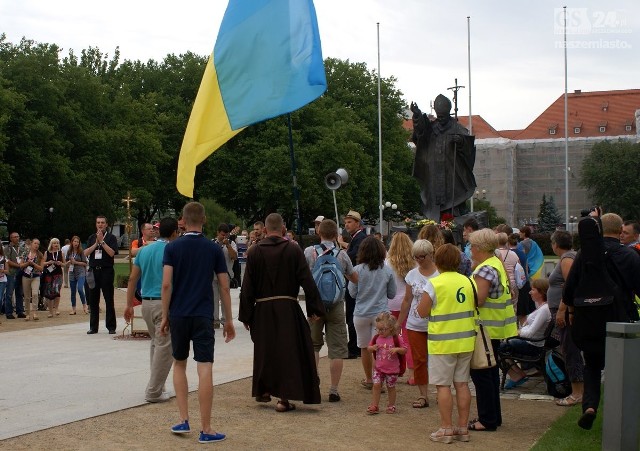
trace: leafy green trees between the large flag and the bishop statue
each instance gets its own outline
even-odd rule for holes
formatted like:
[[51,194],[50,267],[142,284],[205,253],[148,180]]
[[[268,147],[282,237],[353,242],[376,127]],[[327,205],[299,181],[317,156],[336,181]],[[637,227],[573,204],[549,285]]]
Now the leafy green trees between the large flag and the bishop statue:
[[[333,216],[324,185],[343,167],[349,183],[336,191],[338,209],[356,209],[368,223],[378,219],[377,77],[363,63],[328,58],[327,92],[291,114],[302,225]],[[404,103],[383,80],[383,193],[405,211],[418,210],[419,189],[411,177],[413,156],[402,128]],[[249,221],[277,211],[292,226],[295,203],[286,116],[254,125],[216,151],[196,175],[196,196],[216,199]]]

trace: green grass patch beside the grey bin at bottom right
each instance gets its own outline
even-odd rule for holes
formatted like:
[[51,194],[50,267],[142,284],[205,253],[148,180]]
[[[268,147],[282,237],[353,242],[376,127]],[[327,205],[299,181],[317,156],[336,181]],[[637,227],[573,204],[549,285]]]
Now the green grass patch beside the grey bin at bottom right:
[[532,451],[562,451],[562,450],[599,450],[602,448],[602,399],[598,407],[598,416],[590,431],[581,429],[577,422],[582,415],[581,406],[567,408],[567,413],[555,423],[531,448]]

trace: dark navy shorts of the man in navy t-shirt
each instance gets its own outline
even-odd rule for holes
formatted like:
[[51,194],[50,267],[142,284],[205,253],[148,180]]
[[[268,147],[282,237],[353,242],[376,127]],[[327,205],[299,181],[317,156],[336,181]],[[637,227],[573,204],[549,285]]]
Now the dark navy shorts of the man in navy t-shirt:
[[170,317],[169,330],[174,359],[187,360],[193,342],[193,360],[213,362],[215,337],[212,319],[202,316]]

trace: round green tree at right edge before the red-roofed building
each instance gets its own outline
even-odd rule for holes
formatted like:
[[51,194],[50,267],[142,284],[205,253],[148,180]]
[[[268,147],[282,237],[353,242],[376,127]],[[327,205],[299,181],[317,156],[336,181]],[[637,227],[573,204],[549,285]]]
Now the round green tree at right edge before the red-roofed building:
[[604,211],[640,218],[640,143],[603,141],[582,162],[580,185]]

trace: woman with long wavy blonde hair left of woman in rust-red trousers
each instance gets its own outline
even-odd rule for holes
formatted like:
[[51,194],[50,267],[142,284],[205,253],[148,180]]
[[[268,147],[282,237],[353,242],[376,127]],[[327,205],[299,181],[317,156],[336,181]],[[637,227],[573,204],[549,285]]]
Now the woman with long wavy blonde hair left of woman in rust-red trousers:
[[[400,308],[402,307],[402,300],[407,291],[407,284],[404,278],[409,271],[416,267],[416,261],[413,259],[411,249],[413,247],[413,241],[406,233],[396,233],[391,239],[391,245],[387,252],[387,259],[385,265],[387,265],[393,271],[393,278],[396,282],[396,295],[393,298],[387,299],[389,311],[393,316],[398,319],[400,316]],[[407,341],[407,323],[406,321],[401,326],[401,339],[407,346],[407,353],[405,354],[407,369],[413,368],[413,359],[411,358],[411,347]],[[409,375],[407,375],[409,376]],[[413,376],[407,379],[409,385],[414,385]]]

